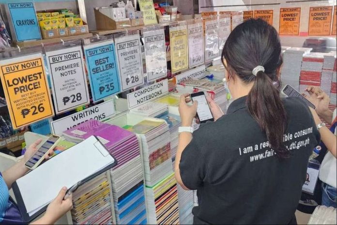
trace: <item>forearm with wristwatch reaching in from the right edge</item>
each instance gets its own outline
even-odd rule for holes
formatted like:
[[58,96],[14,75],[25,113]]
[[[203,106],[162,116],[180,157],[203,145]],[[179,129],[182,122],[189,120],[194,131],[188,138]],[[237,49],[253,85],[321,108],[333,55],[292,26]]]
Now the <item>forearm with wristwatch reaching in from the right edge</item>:
[[[310,108],[310,107],[309,107]],[[316,126],[320,123],[322,123],[320,117],[316,113],[315,110],[310,108],[310,111],[314,117]],[[322,127],[319,129],[319,132],[321,134],[321,140],[326,146],[326,148],[331,152],[335,158],[337,158],[337,139],[336,136],[329,130],[327,127]]]

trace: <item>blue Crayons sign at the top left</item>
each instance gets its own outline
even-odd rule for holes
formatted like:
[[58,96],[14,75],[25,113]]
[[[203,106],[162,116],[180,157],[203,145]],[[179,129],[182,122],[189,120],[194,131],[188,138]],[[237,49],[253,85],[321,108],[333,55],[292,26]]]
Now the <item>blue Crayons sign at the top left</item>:
[[17,41],[41,39],[34,1],[8,3]]

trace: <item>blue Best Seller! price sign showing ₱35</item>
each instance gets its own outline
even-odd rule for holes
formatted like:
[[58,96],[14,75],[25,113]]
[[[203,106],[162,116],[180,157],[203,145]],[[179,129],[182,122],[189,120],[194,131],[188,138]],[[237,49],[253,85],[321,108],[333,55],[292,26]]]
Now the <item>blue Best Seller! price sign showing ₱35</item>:
[[84,46],[94,102],[120,92],[115,45],[112,40]]

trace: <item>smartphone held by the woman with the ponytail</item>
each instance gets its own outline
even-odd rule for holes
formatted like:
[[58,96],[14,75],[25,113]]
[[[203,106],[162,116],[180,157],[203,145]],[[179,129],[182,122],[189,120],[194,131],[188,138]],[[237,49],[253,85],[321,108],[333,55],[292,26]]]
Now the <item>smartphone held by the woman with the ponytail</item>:
[[210,106],[208,105],[205,93],[197,92],[190,94],[192,101],[198,101],[197,117],[200,123],[214,121]]

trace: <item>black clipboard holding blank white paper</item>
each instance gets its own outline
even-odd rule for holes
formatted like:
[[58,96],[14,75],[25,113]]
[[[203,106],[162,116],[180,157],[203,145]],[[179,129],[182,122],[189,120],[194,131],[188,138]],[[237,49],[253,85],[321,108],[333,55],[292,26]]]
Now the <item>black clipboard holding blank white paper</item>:
[[83,184],[116,164],[105,146],[91,136],[17,179],[12,188],[24,222],[43,213],[62,187]]

